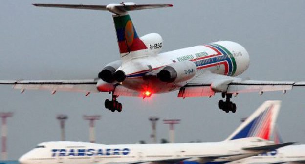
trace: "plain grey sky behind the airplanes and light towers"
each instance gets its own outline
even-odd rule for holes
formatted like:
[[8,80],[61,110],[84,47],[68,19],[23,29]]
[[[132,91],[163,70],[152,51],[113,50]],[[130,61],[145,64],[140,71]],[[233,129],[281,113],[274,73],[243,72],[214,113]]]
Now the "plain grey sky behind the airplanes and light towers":
[[[119,59],[111,14],[103,11],[38,8],[31,3],[109,4],[121,0],[1,0],[0,79],[95,78],[107,63]],[[133,2],[141,3],[142,0]],[[304,0],[148,0],[174,7],[131,12],[140,36],[157,32],[166,52],[183,47],[231,40],[250,54],[249,69],[240,77],[257,80],[305,80]],[[176,142],[221,141],[265,100],[282,100],[278,124],[284,141],[305,143],[305,89],[239,94],[232,101],[237,113],[218,109],[212,98],[178,99],[177,92],[151,99],[120,97],[122,113],[104,109],[107,93],[25,91],[0,86],[0,111],[13,111],[8,120],[8,153],[17,159],[43,141],[59,141],[57,114],[67,114],[68,141],[88,141],[83,114],[100,114],[98,143],[151,141],[149,116],[180,118]],[[157,125],[158,139],[168,138],[168,126]]]

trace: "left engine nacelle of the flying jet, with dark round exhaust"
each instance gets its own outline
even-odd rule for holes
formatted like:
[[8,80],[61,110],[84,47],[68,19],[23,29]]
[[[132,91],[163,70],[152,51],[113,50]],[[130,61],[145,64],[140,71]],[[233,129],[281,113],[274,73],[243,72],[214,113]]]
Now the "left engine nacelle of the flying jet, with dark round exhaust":
[[98,77],[108,83],[112,83],[115,79],[113,77],[115,71],[121,66],[122,61],[116,60],[107,64],[103,70],[98,74]]

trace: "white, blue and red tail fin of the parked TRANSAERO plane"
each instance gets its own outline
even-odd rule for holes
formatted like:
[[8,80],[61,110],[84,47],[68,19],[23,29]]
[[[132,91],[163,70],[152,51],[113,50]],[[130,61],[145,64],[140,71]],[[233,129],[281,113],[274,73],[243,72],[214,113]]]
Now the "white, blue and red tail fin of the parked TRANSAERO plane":
[[226,140],[260,137],[270,140],[281,101],[265,101]]

